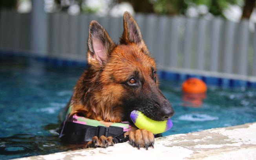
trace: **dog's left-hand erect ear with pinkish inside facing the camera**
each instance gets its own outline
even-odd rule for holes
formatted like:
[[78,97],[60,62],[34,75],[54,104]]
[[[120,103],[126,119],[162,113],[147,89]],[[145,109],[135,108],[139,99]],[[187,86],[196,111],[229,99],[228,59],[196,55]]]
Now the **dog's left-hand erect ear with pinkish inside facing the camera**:
[[106,30],[95,20],[91,21],[88,37],[88,64],[96,63],[102,67],[114,47],[115,44]]

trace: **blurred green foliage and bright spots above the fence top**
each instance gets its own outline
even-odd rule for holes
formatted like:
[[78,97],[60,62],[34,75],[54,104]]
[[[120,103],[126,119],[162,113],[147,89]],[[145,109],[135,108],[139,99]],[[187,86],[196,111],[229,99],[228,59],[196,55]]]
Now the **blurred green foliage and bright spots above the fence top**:
[[[32,0],[1,0],[0,7],[28,13]],[[99,16],[122,16],[131,13],[155,13],[187,17],[220,16],[235,22],[241,18],[256,21],[255,0],[42,0],[47,13],[66,11],[70,15],[96,13]]]

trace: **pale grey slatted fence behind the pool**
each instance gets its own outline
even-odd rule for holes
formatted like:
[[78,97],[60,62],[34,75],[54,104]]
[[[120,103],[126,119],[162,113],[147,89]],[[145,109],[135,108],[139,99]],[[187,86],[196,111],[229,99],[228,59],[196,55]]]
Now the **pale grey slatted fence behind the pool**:
[[[134,17],[161,69],[256,77],[256,32],[249,31],[247,20],[235,23],[221,18],[205,20],[144,14]],[[2,10],[0,50],[86,61],[91,20],[97,20],[112,40],[118,42],[123,32],[122,17],[52,13],[47,14],[44,24],[45,53],[40,53],[31,51],[31,14]]]

